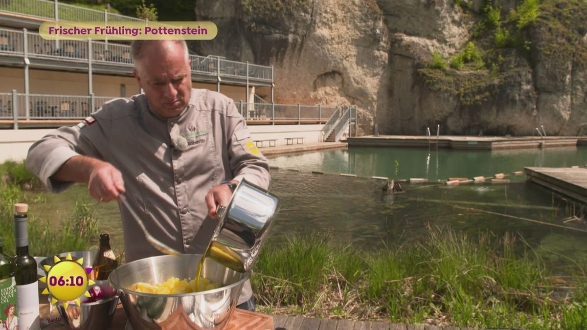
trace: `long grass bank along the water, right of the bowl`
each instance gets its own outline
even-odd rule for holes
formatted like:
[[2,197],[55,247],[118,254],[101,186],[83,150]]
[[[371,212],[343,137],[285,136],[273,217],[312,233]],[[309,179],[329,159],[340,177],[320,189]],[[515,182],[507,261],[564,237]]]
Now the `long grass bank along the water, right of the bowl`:
[[[474,328],[586,329],[585,261],[556,277],[514,236],[429,228],[383,251],[323,235],[265,246],[252,276],[261,312]],[[522,249],[523,250],[523,249]]]

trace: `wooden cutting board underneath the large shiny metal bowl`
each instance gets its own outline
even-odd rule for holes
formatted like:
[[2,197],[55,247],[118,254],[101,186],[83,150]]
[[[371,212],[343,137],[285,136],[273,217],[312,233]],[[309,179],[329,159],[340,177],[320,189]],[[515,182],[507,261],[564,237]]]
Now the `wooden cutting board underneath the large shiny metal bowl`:
[[[114,312],[114,319],[111,330],[124,330],[126,326],[126,312],[119,304]],[[62,324],[52,325],[50,330],[69,330],[67,326]],[[179,330],[179,328],[175,328]],[[273,317],[270,315],[259,314],[255,312],[244,311],[243,309],[235,309],[234,314],[228,323],[227,330],[273,330]]]

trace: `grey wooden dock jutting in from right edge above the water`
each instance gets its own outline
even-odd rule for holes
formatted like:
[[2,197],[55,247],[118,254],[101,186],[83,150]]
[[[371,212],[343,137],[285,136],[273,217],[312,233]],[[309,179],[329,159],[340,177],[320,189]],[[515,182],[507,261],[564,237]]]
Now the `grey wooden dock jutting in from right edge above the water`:
[[524,167],[524,170],[528,180],[582,203],[587,203],[587,169]]

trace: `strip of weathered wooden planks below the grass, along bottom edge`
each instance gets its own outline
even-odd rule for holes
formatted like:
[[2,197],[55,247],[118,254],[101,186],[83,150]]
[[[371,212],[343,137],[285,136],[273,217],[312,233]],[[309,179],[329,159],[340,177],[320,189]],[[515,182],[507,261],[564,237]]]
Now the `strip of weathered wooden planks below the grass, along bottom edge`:
[[393,324],[390,322],[365,322],[336,319],[273,316],[275,330],[473,330],[458,326]]

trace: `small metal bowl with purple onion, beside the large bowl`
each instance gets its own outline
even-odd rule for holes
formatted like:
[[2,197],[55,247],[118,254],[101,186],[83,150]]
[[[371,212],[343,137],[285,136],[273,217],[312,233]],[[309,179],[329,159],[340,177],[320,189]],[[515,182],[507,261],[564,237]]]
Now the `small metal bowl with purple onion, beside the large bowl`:
[[82,303],[79,307],[70,304],[67,309],[59,303],[57,309],[63,318],[63,323],[70,329],[104,330],[112,323],[116,305],[118,305],[117,296],[87,304]]

